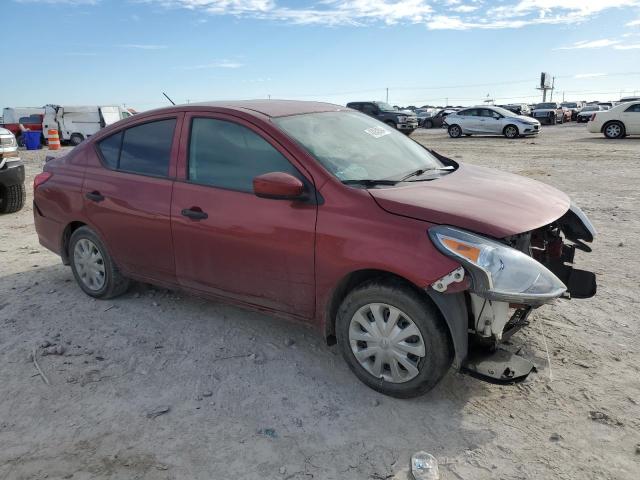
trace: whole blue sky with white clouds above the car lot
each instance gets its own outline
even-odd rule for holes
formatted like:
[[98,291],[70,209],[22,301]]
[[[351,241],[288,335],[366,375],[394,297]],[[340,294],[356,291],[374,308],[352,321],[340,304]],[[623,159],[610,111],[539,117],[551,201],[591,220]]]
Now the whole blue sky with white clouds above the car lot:
[[640,94],[640,0],[0,0],[0,107]]

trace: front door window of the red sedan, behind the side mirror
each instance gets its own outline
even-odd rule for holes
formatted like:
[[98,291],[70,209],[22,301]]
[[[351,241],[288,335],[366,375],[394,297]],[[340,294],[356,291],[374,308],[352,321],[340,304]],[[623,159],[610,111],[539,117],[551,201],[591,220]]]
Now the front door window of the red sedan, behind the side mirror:
[[213,118],[194,118],[189,141],[189,181],[253,192],[253,179],[271,172],[301,178],[278,150],[252,130]]

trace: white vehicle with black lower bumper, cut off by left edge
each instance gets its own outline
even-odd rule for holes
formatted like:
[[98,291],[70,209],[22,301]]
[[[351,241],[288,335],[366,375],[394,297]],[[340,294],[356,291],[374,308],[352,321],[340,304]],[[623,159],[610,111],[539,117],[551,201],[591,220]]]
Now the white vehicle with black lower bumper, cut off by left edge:
[[0,128],[0,213],[17,212],[24,206],[24,165],[18,156],[15,135]]

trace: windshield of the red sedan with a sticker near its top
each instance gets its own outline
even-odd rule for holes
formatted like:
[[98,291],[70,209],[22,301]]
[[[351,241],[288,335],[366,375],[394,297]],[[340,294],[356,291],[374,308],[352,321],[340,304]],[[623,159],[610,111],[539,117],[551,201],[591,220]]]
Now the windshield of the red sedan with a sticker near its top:
[[399,179],[442,168],[424,147],[356,112],[308,113],[273,120],[341,181]]

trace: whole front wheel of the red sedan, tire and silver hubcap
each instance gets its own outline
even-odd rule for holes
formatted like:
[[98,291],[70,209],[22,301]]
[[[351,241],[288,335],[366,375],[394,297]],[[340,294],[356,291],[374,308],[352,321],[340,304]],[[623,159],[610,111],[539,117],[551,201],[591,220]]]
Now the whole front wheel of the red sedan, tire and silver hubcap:
[[342,356],[367,386],[398,398],[431,390],[452,362],[449,336],[429,299],[399,282],[353,290],[338,311]]

